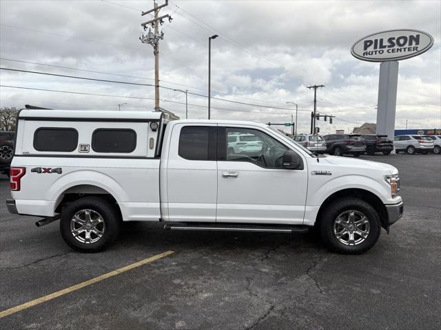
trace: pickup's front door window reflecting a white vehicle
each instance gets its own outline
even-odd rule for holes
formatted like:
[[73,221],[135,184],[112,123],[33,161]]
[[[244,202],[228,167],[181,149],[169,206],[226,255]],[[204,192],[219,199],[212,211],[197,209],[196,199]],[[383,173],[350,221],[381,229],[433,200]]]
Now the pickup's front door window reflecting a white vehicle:
[[227,161],[252,162],[265,168],[282,168],[288,150],[273,137],[256,129],[227,127]]

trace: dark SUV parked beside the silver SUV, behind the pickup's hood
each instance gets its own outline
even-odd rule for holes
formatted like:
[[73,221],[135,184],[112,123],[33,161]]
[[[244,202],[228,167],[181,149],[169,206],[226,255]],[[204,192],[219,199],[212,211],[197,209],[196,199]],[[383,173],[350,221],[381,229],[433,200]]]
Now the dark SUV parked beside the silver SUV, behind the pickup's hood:
[[360,134],[329,134],[323,138],[326,142],[325,153],[329,155],[350,154],[358,157],[366,151],[365,140]]

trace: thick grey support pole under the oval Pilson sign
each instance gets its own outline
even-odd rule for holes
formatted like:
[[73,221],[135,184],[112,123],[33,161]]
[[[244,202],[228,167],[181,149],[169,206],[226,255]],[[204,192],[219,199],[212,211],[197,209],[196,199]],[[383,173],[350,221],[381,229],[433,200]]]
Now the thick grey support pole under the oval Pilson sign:
[[[387,135],[393,141],[397,104],[398,61],[380,64],[378,84],[378,111],[376,133]],[[395,152],[395,151],[393,151]]]

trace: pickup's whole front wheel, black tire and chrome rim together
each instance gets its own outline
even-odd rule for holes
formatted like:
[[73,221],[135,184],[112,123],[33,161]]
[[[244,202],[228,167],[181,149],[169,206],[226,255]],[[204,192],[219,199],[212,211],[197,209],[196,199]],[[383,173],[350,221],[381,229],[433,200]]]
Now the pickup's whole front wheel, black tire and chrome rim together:
[[346,197],[331,202],[322,212],[318,231],[329,250],[360,254],[378,241],[380,218],[369,203]]

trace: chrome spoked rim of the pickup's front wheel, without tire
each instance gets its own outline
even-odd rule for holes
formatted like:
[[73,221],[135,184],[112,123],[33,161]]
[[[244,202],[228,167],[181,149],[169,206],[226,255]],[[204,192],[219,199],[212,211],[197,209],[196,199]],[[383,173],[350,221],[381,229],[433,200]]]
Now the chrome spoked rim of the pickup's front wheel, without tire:
[[347,210],[334,221],[334,235],[345,245],[353,246],[366,241],[369,236],[369,220],[360,211]]

